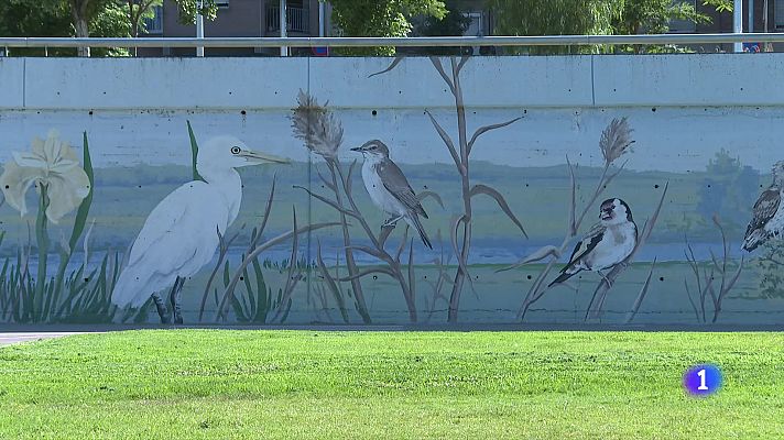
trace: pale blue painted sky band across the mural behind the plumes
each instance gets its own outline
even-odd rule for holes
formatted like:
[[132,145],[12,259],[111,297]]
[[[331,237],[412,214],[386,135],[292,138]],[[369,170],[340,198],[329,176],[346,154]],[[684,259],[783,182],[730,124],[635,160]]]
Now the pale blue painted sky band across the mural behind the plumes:
[[[292,97],[292,106],[294,106]],[[457,139],[455,111],[432,110]],[[424,114],[424,109],[345,109],[336,111],[345,128],[345,158],[355,158],[349,147],[370,139],[388,143],[399,163],[450,163],[446,146]],[[283,111],[11,111],[0,118],[0,161],[12,151],[30,148],[33,136],[56,128],[75,146],[81,131],[90,136],[94,164],[98,167],[146,163],[189,163],[186,120],[198,139],[235,134],[249,146],[307,160],[307,151],[293,138],[288,113]],[[629,117],[634,152],[630,169],[704,170],[721,148],[745,165],[766,173],[784,158],[780,145],[784,109],[762,108],[585,108],[585,109],[468,109],[469,135],[476,128],[523,117],[514,124],[487,133],[477,142],[472,158],[512,166],[551,166],[573,162],[599,166],[598,140],[612,118]]]

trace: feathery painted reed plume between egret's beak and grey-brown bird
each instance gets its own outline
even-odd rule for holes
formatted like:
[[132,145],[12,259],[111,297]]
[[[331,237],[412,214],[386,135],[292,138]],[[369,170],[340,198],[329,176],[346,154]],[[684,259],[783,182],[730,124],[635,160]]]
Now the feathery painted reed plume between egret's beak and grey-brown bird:
[[329,160],[335,158],[342,143],[342,127],[326,106],[327,102],[319,106],[316,98],[300,90],[291,120],[294,136],[303,140],[312,152]]

